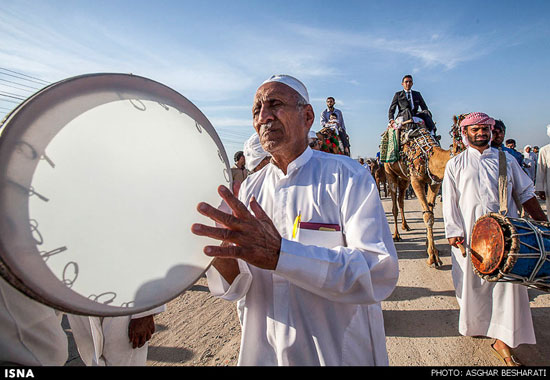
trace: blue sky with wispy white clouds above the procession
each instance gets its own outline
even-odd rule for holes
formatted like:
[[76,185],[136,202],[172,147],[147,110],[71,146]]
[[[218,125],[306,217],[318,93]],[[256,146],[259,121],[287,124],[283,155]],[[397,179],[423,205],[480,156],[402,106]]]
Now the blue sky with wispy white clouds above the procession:
[[[547,0],[2,0],[0,68],[48,82],[123,72],[164,83],[203,111],[230,162],[253,133],[258,85],[276,73],[306,84],[315,130],[326,97],[336,98],[352,157],[376,154],[405,74],[443,147],[453,115],[482,111],[523,148],[550,143],[548,15]],[[15,106],[7,100],[0,117]]]

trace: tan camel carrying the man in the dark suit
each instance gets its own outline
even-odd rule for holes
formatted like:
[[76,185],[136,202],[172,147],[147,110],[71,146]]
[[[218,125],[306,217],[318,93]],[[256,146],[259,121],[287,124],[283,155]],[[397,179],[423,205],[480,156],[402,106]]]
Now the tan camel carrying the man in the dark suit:
[[399,160],[384,163],[392,199],[392,214],[395,225],[393,239],[394,241],[401,240],[397,227],[399,210],[401,211],[401,227],[405,231],[410,231],[403,208],[403,198],[410,183],[423,210],[422,216],[426,226],[427,262],[430,267],[438,268],[442,265],[433,238],[433,209],[436,196],[441,188],[447,162],[465,149],[459,130],[459,122],[463,117],[464,115],[454,117],[454,124],[451,129],[453,143],[449,150],[442,149],[426,128],[415,128],[414,124],[408,124],[400,133],[401,154]]

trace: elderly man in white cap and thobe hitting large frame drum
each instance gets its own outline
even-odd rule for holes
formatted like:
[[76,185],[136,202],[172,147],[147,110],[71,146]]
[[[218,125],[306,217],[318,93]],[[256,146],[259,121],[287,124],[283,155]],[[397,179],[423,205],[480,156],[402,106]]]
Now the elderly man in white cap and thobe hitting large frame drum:
[[254,129],[271,162],[246,178],[239,198],[219,193],[233,214],[198,210],[223,241],[210,291],[242,310],[240,365],[388,365],[380,302],[398,263],[376,184],[359,163],[312,150],[305,86],[278,75],[257,90]]

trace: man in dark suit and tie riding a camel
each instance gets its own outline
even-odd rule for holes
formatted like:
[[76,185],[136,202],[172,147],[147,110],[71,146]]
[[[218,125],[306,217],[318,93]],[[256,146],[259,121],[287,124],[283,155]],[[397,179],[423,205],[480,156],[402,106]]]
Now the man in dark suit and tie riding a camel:
[[[426,102],[424,102],[420,92],[411,90],[413,85],[412,76],[405,75],[401,84],[403,85],[403,91],[395,93],[390,105],[390,110],[388,112],[388,119],[390,122],[394,120],[395,109],[398,108],[397,117],[403,116],[404,121],[412,119],[413,116],[419,117],[424,120],[426,128],[435,133],[435,124]],[[418,108],[420,108],[421,111],[419,111]]]

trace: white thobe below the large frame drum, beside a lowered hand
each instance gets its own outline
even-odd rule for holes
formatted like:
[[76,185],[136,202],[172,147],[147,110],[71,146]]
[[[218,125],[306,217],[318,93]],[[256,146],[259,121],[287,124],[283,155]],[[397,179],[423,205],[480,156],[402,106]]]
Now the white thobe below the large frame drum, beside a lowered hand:
[[131,319],[154,315],[166,305],[140,314],[122,317],[89,317],[67,314],[80,358],[86,366],[144,366],[149,342],[132,347],[128,337]]

